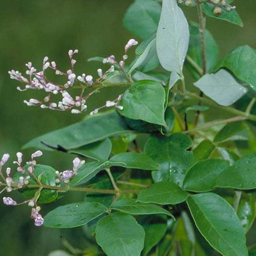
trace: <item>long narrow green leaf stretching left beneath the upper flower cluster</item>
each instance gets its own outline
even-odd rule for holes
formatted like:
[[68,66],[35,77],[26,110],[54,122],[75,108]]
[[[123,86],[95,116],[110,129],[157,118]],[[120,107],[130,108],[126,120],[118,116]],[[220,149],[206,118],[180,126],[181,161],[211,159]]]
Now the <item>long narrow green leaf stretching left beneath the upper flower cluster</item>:
[[117,112],[107,112],[87,117],[83,121],[34,138],[23,148],[36,147],[51,150],[43,145],[42,141],[54,147],[61,145],[65,149],[73,149],[128,131],[130,131],[129,128]]

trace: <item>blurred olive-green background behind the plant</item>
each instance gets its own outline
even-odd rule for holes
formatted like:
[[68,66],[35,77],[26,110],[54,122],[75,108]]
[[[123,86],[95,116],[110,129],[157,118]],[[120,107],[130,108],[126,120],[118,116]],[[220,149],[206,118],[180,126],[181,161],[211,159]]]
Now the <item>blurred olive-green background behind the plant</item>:
[[[31,61],[40,68],[47,55],[63,69],[68,68],[67,51],[78,48],[76,73],[95,75],[98,63],[87,62],[91,56],[121,56],[126,41],[133,37],[122,26],[122,17],[132,0],[2,0],[0,8],[0,155],[15,154],[22,144],[42,133],[80,120],[83,116],[27,107],[22,101],[38,95],[18,92],[18,83],[7,71],[24,73]],[[244,27],[207,18],[207,28],[220,46],[220,57],[242,44],[256,48],[256,2],[236,0]],[[188,19],[197,20],[195,9],[186,8]],[[139,38],[136,38],[139,40]],[[89,110],[114,91],[104,91],[88,102]],[[41,95],[40,95],[41,96]],[[31,151],[25,151],[28,155]],[[56,169],[68,168],[72,157],[45,152],[40,162]],[[18,198],[18,194],[14,195]],[[83,194],[70,194],[56,204],[82,200]],[[55,205],[43,206],[43,211]],[[61,248],[68,239],[75,247],[84,247],[82,229],[56,230],[35,228],[26,206],[7,208],[0,204],[0,256],[46,256]]]

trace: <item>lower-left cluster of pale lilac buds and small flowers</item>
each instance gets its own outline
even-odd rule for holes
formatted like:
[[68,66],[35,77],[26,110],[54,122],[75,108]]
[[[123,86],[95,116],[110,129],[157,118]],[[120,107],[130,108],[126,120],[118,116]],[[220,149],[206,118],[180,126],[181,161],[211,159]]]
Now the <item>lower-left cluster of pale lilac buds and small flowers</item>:
[[[42,156],[42,152],[40,150],[35,151],[31,154],[31,158],[25,162],[25,166],[22,166],[23,162],[23,154],[21,152],[16,153],[17,159],[13,161],[14,164],[17,165],[16,170],[19,173],[18,178],[11,177],[11,169],[10,167],[6,167],[5,175],[3,171],[3,165],[6,164],[10,155],[8,153],[3,154],[0,160],[0,176],[2,181],[0,181],[0,186],[3,186],[3,189],[0,190],[0,193],[3,191],[11,192],[12,190],[20,189],[23,186],[29,187],[29,181],[33,180],[38,184],[38,191],[40,194],[41,189],[43,189],[43,184],[40,182],[39,176],[36,176],[34,173],[36,167],[36,158]],[[73,159],[73,168],[72,170],[65,170],[63,172],[56,171],[56,183],[59,183],[56,187],[61,186],[61,182],[66,184],[69,180],[77,174],[78,168],[84,163],[84,160],[80,160],[78,157]],[[14,206],[21,204],[28,204],[28,206],[32,207],[31,209],[31,218],[34,220],[35,226],[40,226],[43,224],[43,217],[39,213],[40,206],[37,205],[38,193],[35,193],[34,196],[28,200],[24,200],[23,202],[17,203],[9,196],[4,196],[2,201],[5,205]]]

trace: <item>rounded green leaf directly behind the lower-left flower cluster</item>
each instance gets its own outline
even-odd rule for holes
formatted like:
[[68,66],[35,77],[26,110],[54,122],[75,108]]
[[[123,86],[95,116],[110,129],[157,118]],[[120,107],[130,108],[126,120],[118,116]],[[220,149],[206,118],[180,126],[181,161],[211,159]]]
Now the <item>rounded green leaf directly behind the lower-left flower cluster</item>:
[[[25,166],[26,168],[27,166]],[[39,178],[40,177],[40,182],[44,185],[50,185],[50,186],[55,186],[55,179],[57,178],[55,174],[55,169],[53,169],[50,166],[47,165],[42,165],[42,164],[36,164],[34,168],[34,175]],[[19,176],[26,177],[28,173],[21,173],[21,172],[16,172],[13,179],[15,181],[18,181]],[[29,184],[36,184],[36,182],[30,178],[29,179]],[[22,189],[22,194],[25,196],[27,199],[31,199],[35,193],[38,191],[38,188],[26,188]],[[39,199],[38,203],[49,203],[54,201],[58,194],[56,190],[50,190],[50,189],[42,189],[40,193],[38,194]]]

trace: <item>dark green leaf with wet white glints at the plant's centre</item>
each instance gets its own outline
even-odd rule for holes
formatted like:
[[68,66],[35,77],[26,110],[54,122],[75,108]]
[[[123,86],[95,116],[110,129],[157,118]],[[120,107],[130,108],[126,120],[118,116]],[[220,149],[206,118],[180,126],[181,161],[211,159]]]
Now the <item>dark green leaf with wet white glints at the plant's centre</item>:
[[194,160],[193,153],[185,150],[190,146],[191,138],[182,133],[149,137],[144,152],[159,164],[158,171],[152,172],[154,182],[169,180],[182,185],[184,174]]

